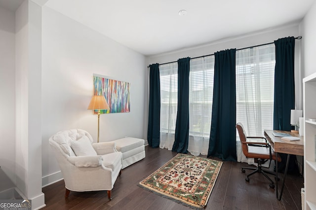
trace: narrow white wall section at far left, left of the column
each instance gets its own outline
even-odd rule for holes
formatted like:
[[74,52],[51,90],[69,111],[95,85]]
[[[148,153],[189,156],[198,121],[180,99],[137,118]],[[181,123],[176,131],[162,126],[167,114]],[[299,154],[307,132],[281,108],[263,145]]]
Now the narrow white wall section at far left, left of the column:
[[15,14],[0,7],[0,167],[15,183]]

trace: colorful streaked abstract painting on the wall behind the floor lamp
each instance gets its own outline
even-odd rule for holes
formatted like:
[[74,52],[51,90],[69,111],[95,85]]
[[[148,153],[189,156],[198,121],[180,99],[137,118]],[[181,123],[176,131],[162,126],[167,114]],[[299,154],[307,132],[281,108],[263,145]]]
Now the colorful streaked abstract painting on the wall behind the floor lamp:
[[[130,111],[129,82],[122,82],[93,74],[93,93],[94,95],[104,95],[110,106],[109,110],[101,110],[101,114]],[[97,110],[94,110],[94,113],[97,114]]]

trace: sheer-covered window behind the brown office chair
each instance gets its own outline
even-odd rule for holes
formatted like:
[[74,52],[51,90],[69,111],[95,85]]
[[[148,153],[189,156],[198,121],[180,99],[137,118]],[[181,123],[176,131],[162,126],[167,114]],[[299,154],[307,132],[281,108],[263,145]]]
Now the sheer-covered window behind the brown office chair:
[[275,45],[236,52],[237,122],[248,136],[273,128]]

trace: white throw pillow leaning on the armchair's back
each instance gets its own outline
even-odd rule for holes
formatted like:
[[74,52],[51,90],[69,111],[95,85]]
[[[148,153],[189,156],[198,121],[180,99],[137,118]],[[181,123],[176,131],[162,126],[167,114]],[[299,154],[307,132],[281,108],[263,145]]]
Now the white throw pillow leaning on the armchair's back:
[[86,136],[81,136],[78,140],[72,140],[71,148],[77,156],[97,155],[91,145],[91,141]]

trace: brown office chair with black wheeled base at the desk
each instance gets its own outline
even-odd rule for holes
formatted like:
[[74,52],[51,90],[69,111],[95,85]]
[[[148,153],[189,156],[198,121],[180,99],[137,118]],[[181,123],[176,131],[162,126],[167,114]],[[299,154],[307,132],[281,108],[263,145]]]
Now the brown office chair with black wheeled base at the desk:
[[[255,162],[258,163],[258,167],[256,167],[256,168],[249,168],[249,167],[242,167],[241,168],[242,173],[245,173],[245,169],[254,170],[254,172],[247,175],[245,180],[247,182],[249,182],[249,176],[256,174],[256,173],[261,173],[266,178],[268,178],[269,181],[271,182],[269,184],[269,186],[271,188],[275,188],[275,184],[274,184],[273,180],[267,174],[271,174],[271,175],[276,175],[276,174],[272,171],[263,169],[261,166],[263,163],[266,163],[268,160],[270,160],[270,161],[276,160],[276,154],[271,150],[271,147],[267,143],[267,140],[264,137],[246,137],[243,126],[241,123],[237,123],[236,128],[237,128],[237,131],[239,134],[243,154],[247,158],[254,158]],[[247,141],[247,139],[258,139],[258,138],[265,139],[266,142]],[[281,158],[278,157],[277,161],[280,162]]]

